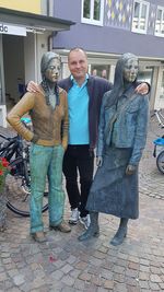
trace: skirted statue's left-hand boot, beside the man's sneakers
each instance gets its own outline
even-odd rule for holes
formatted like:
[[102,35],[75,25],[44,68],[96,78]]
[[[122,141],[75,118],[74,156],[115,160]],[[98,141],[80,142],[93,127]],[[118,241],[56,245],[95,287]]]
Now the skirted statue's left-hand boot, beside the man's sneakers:
[[98,212],[91,212],[90,218],[91,218],[91,224],[89,229],[78,237],[80,242],[99,236]]

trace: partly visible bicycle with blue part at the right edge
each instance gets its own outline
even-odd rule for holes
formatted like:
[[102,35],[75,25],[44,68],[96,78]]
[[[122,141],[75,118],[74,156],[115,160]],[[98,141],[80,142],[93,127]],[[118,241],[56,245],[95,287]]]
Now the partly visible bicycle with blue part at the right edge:
[[[162,113],[162,109],[154,110],[154,114],[151,117],[153,116],[156,117],[159,126],[161,126],[159,128],[164,129],[164,114]],[[161,136],[161,138],[155,139],[153,143],[154,143],[153,156],[156,157],[157,170],[162,174],[164,174],[164,136]]]

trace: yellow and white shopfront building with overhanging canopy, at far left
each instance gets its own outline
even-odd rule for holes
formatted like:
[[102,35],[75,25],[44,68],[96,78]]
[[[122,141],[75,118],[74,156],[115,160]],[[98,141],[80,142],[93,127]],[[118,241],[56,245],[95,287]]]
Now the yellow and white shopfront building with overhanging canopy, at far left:
[[0,125],[30,80],[40,80],[40,57],[51,49],[52,34],[71,21],[52,17],[51,0],[0,0]]

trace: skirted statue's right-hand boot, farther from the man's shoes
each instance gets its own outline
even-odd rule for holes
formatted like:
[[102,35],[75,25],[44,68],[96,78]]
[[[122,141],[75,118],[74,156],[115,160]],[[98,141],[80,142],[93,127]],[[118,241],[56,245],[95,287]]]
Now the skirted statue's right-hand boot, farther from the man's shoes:
[[128,225],[128,219],[121,218],[118,231],[116,232],[115,236],[110,241],[112,245],[117,246],[124,242],[125,237],[127,236],[127,230],[128,230],[127,225]]

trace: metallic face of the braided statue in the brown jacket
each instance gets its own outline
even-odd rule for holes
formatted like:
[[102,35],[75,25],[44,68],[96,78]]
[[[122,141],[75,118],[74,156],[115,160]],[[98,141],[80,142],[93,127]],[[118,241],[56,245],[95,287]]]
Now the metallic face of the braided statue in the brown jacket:
[[57,82],[60,74],[60,60],[55,58],[50,61],[46,72],[45,77],[50,82]]

